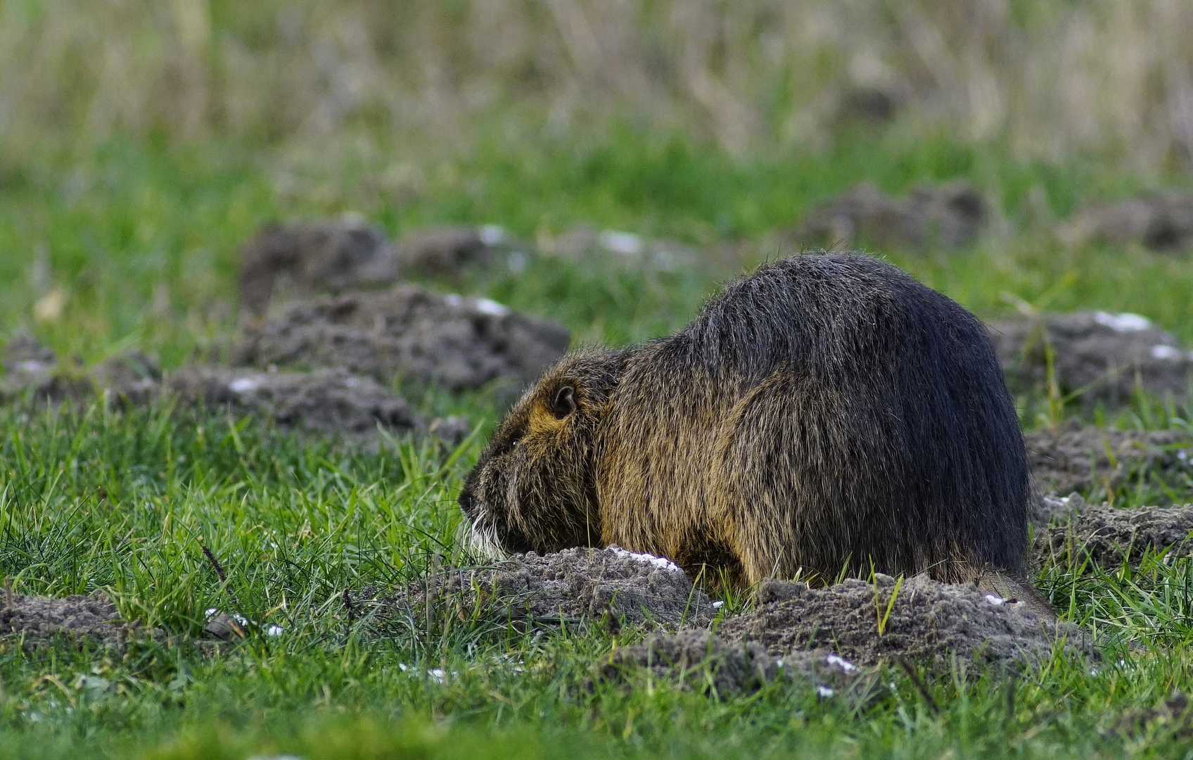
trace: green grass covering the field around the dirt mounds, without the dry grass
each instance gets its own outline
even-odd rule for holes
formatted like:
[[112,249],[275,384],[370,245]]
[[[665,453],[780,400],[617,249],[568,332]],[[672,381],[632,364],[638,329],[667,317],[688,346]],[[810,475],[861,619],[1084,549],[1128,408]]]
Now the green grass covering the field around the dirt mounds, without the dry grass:
[[[369,161],[316,171],[218,142],[171,148],[122,138],[14,166],[0,179],[0,334],[27,327],[84,362],[128,345],[156,352],[167,366],[217,352],[233,328],[236,248],[271,218],[352,210],[392,235],[435,222],[496,222],[527,239],[592,221],[711,246],[760,241],[863,179],[903,191],[954,175],[996,199],[1006,234],[956,254],[891,252],[891,260],[982,316],[1010,310],[1012,296],[1057,309],[1127,309],[1193,341],[1187,259],[1067,251],[1028,208],[1030,197],[1043,197],[1047,214],[1063,216],[1090,199],[1130,194],[1142,179],[1022,165],[997,146],[942,137],[859,137],[822,154],[742,160],[629,129],[513,148],[494,138],[428,163],[414,194],[387,190]],[[779,253],[755,243],[740,264],[648,276],[543,260],[519,274],[450,286],[560,319],[579,340],[626,342],[684,325],[721,280]],[[38,322],[33,304],[52,288],[68,296],[64,313]],[[1015,678],[958,662],[950,674],[926,674],[931,703],[898,669],[883,674],[865,704],[787,682],[741,698],[645,678],[632,688],[593,687],[592,665],[614,643],[602,630],[534,637],[480,624],[350,620],[345,588],[392,587],[433,562],[460,558],[455,498],[496,410],[483,393],[451,398],[428,390],[415,401],[468,413],[481,435],[456,452],[394,441],[366,452],[168,409],[0,409],[0,574],[21,593],[109,589],[125,616],[171,635],[124,654],[0,643],[0,754],[1186,753],[1189,723],[1141,725],[1137,717],[1174,690],[1193,692],[1188,560],[1145,561],[1139,570],[1043,568],[1041,591],[1095,634],[1106,661],[1092,672],[1057,656]],[[1181,407],[1141,403],[1112,421],[1166,427],[1182,418]],[[1027,400],[1024,419],[1038,421]],[[1193,500],[1193,488],[1164,487],[1173,500]],[[1141,481],[1125,500],[1160,493]],[[204,545],[227,567],[228,588]],[[242,613],[285,632],[255,635],[220,656],[197,650],[188,637],[204,610],[229,607],[229,589]],[[443,682],[428,674],[435,668]]]

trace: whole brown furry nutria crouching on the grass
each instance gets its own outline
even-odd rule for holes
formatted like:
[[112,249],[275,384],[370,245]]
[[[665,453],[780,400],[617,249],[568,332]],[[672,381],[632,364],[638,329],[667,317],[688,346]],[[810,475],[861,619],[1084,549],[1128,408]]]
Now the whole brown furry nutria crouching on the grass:
[[889,264],[816,253],[731,283],[675,335],[564,357],[459,501],[506,552],[617,544],[734,585],[964,582],[1021,577],[1028,493],[983,325]]

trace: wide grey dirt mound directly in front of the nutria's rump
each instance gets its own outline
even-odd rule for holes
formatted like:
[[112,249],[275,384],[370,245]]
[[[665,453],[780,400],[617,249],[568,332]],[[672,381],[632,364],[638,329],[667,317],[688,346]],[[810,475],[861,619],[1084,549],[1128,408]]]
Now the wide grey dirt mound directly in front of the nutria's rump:
[[877,576],[877,589],[859,580],[827,588],[771,581],[759,589],[755,610],[727,619],[719,634],[729,643],[758,642],[772,656],[829,649],[863,665],[908,657],[947,667],[948,653],[991,663],[1033,661],[1058,639],[1067,639],[1070,654],[1098,656],[1080,629],[1038,614],[1025,601],[915,576],[891,604],[895,588],[896,580],[885,575]]

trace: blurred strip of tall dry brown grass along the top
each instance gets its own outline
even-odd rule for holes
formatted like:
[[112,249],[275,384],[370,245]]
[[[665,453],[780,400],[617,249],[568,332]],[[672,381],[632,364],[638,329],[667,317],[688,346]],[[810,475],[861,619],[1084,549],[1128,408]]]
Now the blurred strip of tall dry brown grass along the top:
[[827,144],[877,89],[911,135],[1163,172],[1193,155],[1189,30],[1188,0],[0,1],[0,132],[453,143],[520,115],[744,152]]

